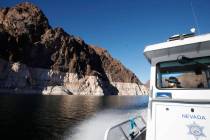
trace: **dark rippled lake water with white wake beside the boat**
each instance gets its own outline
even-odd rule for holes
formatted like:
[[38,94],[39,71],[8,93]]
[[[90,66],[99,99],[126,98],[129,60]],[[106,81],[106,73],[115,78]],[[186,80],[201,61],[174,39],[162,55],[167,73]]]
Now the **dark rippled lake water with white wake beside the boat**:
[[147,96],[0,96],[0,135],[10,139],[103,140],[131,116],[146,116]]

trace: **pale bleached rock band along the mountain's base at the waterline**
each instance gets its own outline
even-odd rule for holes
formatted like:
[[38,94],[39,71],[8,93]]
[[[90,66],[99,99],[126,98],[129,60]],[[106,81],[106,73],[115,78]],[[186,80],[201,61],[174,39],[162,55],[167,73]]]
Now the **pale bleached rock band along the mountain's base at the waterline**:
[[[78,77],[75,73],[30,68],[0,59],[0,92],[43,95],[146,95],[136,83],[111,82],[96,76]],[[113,88],[117,93],[113,93]]]

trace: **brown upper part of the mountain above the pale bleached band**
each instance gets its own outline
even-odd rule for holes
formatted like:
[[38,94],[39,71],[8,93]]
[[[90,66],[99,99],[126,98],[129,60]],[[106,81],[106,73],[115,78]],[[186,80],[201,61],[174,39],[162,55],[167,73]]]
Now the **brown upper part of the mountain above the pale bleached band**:
[[51,28],[43,12],[27,2],[0,9],[0,58],[80,77],[97,76],[106,87],[111,87],[110,82],[141,84],[106,50],[88,45],[62,28]]

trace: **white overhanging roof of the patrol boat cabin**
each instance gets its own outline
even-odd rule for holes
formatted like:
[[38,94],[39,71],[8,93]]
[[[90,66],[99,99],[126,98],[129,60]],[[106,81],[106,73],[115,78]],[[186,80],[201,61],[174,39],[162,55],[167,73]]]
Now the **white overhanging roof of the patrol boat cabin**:
[[145,47],[144,55],[151,63],[157,57],[199,50],[210,50],[210,33],[149,45]]

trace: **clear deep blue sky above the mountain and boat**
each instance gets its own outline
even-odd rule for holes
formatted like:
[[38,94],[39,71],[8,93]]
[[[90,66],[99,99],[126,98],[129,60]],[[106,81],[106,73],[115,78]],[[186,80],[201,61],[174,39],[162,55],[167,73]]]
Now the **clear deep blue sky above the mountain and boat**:
[[[0,0],[11,7],[24,0]],[[145,46],[166,41],[174,34],[210,32],[210,0],[28,0],[47,16],[87,44],[108,50],[145,83],[150,64]],[[192,5],[192,6],[191,6]],[[193,9],[193,10],[192,10]],[[194,16],[195,15],[195,16]]]

